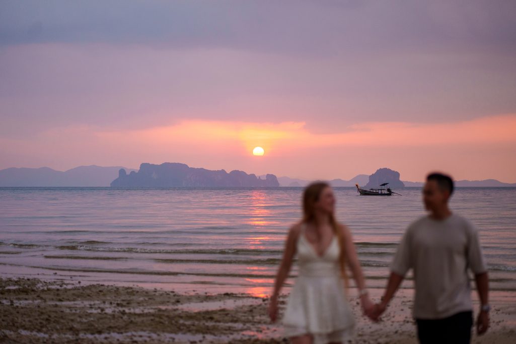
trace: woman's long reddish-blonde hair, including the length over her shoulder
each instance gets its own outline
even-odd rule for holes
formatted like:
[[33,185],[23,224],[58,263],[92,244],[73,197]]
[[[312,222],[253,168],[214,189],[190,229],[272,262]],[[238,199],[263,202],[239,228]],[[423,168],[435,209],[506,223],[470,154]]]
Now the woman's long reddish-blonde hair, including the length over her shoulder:
[[[308,185],[303,192],[303,222],[309,223],[313,222],[315,220],[315,204],[319,200],[322,191],[326,189],[327,187],[330,187],[330,184],[326,182],[314,182]],[[346,274],[346,255],[345,255],[345,243],[344,243],[344,237],[342,235],[342,232],[338,230],[338,223],[337,220],[335,220],[335,214],[332,212],[330,214],[330,224],[333,229],[333,233],[338,239],[338,246],[340,247],[340,254],[339,254],[339,262],[341,266],[341,274],[342,278],[344,278],[344,282],[346,285],[346,288],[348,287],[348,277]]]

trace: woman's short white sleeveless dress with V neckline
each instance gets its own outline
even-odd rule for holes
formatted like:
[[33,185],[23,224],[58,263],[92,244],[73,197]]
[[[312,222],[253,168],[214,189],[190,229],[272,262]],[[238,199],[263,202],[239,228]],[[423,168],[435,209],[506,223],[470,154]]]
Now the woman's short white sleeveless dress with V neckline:
[[286,337],[311,334],[314,344],[350,339],[354,318],[345,295],[335,236],[319,257],[304,234],[297,242],[299,275],[287,299],[283,325]]

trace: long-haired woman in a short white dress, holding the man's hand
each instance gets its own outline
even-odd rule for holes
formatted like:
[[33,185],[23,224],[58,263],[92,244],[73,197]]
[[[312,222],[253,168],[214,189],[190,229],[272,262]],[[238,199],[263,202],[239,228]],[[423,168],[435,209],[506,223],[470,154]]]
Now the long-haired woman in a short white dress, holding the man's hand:
[[297,254],[299,275],[288,296],[283,325],[293,344],[340,343],[353,332],[354,320],[346,298],[347,264],[359,289],[362,309],[374,305],[349,229],[336,222],[335,197],[327,183],[310,184],[303,194],[303,218],[288,231],[285,252],[270,298],[269,316],[278,315],[278,295]]

